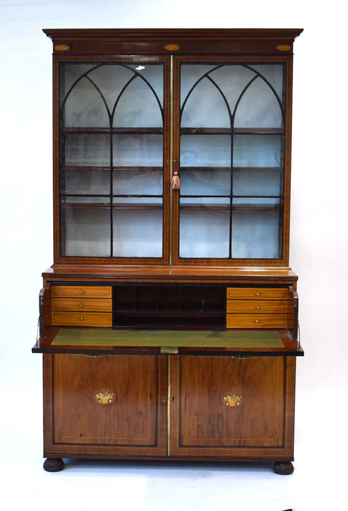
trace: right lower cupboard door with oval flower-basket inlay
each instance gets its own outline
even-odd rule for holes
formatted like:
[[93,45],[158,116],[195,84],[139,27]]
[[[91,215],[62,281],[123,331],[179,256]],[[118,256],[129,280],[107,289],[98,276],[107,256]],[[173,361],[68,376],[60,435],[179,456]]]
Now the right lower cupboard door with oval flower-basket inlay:
[[170,364],[171,455],[261,457],[283,447],[285,357],[175,356]]

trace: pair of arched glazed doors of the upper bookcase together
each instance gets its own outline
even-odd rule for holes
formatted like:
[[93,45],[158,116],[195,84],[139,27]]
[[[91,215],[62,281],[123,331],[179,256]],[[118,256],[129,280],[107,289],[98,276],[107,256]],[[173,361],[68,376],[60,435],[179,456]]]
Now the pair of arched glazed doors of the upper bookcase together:
[[57,260],[287,264],[288,57],[70,57],[57,73]]

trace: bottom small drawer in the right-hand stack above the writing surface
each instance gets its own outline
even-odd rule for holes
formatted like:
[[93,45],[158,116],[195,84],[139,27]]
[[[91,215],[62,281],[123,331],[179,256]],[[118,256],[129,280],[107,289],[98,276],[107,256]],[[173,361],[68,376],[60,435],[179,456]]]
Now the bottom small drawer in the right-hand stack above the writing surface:
[[292,316],[287,314],[227,314],[227,328],[291,328]]

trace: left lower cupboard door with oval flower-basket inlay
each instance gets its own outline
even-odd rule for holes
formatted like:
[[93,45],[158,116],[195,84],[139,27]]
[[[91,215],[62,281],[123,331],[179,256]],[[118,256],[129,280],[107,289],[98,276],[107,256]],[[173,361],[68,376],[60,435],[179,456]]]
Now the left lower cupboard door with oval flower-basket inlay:
[[60,451],[166,454],[164,357],[54,355],[51,374]]

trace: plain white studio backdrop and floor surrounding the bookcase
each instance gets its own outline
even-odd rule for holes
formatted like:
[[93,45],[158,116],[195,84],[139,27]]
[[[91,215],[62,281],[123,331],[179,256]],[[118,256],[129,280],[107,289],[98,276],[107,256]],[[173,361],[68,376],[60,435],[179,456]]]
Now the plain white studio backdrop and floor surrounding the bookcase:
[[[3,509],[346,509],[347,67],[343,2],[13,0],[0,3]],[[290,265],[295,472],[262,464],[73,461],[42,470],[41,356],[32,355],[52,250],[52,43],[42,28],[304,28],[294,43]],[[175,42],[175,41],[168,41]]]

